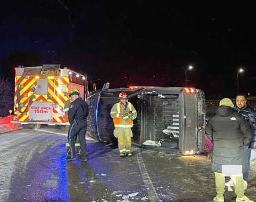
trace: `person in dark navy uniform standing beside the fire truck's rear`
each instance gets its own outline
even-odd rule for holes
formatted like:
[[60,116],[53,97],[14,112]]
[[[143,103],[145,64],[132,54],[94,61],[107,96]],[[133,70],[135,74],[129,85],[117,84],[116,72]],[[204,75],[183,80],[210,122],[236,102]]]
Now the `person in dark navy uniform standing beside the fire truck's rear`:
[[76,159],[75,149],[75,136],[78,134],[78,139],[81,145],[81,157],[80,161],[87,161],[87,146],[85,140],[85,134],[87,129],[87,116],[88,105],[80,97],[79,90],[77,88],[70,91],[71,103],[68,110],[68,121],[70,127],[68,129],[67,140],[70,146],[70,156],[67,157],[67,161]]

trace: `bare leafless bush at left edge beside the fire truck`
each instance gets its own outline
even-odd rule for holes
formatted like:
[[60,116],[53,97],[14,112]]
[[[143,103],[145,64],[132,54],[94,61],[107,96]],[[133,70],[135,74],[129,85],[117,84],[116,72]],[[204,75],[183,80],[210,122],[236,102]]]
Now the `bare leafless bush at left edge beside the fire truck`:
[[14,106],[14,89],[12,82],[0,76],[0,117],[9,115]]

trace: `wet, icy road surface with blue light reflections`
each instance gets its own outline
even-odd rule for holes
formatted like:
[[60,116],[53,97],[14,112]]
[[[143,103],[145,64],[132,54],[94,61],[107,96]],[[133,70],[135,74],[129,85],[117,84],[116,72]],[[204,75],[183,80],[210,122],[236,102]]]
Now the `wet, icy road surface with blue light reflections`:
[[[66,162],[66,134],[55,128],[0,135],[0,201],[211,201],[214,175],[206,156],[179,156],[132,147],[119,157],[117,145],[87,137],[87,162]],[[246,194],[256,201],[256,163]],[[226,189],[225,201],[235,201]]]

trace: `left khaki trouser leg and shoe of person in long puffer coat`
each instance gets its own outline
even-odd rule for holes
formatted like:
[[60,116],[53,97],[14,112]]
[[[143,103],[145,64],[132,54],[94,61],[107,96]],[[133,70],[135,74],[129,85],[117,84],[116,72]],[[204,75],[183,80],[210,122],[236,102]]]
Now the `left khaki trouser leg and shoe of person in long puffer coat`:
[[216,197],[213,198],[214,202],[224,202],[224,192],[225,192],[225,177],[222,173],[215,173],[215,185],[216,185]]

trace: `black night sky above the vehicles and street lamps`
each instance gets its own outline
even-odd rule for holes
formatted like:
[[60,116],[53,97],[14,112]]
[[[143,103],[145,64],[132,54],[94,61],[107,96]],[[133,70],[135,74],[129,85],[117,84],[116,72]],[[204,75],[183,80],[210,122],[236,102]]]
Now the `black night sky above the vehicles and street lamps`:
[[17,65],[61,64],[100,88],[133,85],[203,89],[207,99],[256,96],[252,5],[173,1],[5,1],[1,73]]

